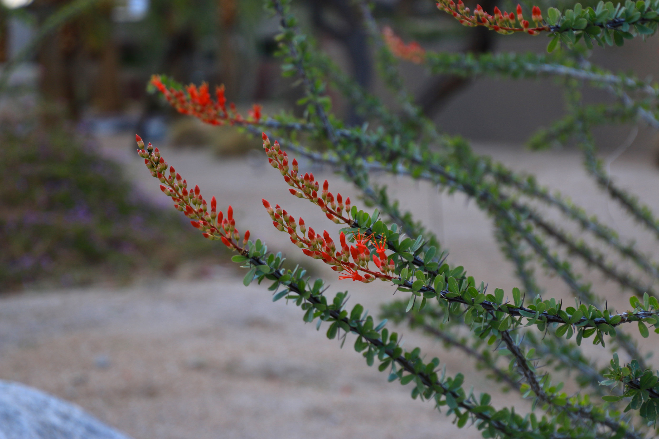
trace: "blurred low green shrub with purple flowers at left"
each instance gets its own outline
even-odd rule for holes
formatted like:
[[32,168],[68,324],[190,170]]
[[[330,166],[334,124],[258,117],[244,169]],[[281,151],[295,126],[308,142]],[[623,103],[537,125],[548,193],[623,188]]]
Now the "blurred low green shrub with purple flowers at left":
[[210,255],[57,116],[0,121],[0,145],[0,291],[125,282]]

